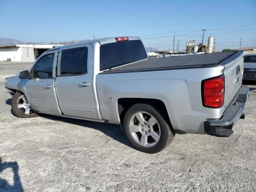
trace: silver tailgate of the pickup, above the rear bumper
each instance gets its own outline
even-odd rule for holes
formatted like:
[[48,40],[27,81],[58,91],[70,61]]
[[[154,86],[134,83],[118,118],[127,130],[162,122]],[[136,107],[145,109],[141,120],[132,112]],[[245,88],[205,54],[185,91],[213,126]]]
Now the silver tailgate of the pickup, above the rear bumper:
[[225,66],[223,71],[225,76],[224,112],[242,86],[242,73],[244,69],[243,52],[236,52],[220,64]]

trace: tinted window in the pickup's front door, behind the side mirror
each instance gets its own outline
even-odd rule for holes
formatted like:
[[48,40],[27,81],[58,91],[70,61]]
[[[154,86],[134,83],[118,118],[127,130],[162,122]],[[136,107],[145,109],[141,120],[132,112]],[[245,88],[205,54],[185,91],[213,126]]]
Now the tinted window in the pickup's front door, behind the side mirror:
[[33,67],[34,78],[52,78],[54,53],[40,58]]

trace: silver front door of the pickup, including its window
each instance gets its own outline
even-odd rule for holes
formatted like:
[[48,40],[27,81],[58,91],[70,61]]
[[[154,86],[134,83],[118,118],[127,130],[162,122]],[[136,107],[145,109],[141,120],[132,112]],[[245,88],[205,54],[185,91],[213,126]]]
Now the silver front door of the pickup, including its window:
[[60,115],[54,94],[58,50],[42,54],[32,67],[31,79],[25,84],[32,108],[38,112]]

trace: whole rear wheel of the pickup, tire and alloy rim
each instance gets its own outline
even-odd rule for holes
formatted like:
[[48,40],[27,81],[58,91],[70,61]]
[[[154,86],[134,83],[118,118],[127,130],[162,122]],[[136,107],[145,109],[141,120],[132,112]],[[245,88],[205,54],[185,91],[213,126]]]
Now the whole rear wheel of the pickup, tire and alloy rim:
[[135,104],[124,116],[124,132],[137,150],[157,153],[168,146],[174,137],[161,110],[149,104]]

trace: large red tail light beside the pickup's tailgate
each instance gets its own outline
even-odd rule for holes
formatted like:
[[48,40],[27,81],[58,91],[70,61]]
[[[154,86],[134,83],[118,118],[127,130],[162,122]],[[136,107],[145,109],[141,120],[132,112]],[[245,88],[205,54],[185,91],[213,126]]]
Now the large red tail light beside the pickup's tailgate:
[[202,102],[204,107],[220,108],[224,104],[224,74],[202,81]]

